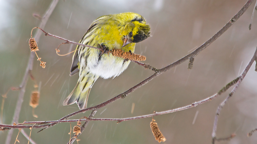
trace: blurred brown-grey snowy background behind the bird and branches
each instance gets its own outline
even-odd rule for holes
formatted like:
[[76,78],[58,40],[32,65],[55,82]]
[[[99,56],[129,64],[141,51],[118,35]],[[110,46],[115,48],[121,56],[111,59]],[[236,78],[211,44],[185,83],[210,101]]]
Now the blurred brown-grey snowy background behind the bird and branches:
[[[31,29],[40,20],[51,0],[0,1],[0,94],[9,87],[18,87],[23,79],[30,54],[28,40]],[[108,14],[134,12],[142,15],[150,24],[151,36],[137,43],[136,54],[146,56],[146,61],[157,69],[165,67],[188,55],[216,34],[246,3],[246,0],[65,0],[59,1],[44,30],[62,38],[79,42],[90,24],[98,17]],[[252,58],[257,46],[257,14],[252,29],[248,26],[254,4],[220,38],[195,57],[192,70],[188,61],[158,76],[119,99],[99,109],[94,118],[127,118],[152,114],[192,104],[211,96],[227,83],[238,77]],[[35,34],[36,31],[34,31]],[[32,74],[41,82],[38,118],[32,116],[30,95],[35,88],[29,79],[19,117],[24,121],[58,120],[79,110],[76,104],[63,106],[63,100],[77,84],[78,75],[69,76],[73,54],[58,56],[55,48],[62,40],[41,36],[37,42],[37,54],[46,62],[43,69],[34,59]],[[61,54],[75,50],[76,45],[62,45]],[[234,95],[222,109],[218,122],[217,138],[236,137],[216,143],[256,143],[257,133],[247,133],[257,127],[257,73],[254,64]],[[91,89],[88,107],[95,106],[140,83],[153,72],[131,62],[128,69],[115,79],[98,79]],[[211,143],[211,133],[220,103],[231,92],[230,88],[220,97],[200,106],[170,114],[155,116],[163,143]],[[19,91],[7,94],[3,110],[3,124],[11,124]],[[2,98],[1,98],[2,99]],[[131,113],[132,104],[134,112]],[[70,119],[88,116],[90,112]],[[197,116],[196,116],[197,114]],[[196,116],[196,118],[195,118]],[[195,118],[195,121],[194,121]],[[114,121],[91,121],[79,136],[79,143],[158,143],[150,130],[152,118],[131,120],[116,124]],[[72,127],[77,123],[73,122]],[[31,139],[36,143],[67,143],[69,123],[61,123],[37,133],[33,129]],[[18,129],[14,130],[11,143],[15,142]],[[29,134],[30,130],[25,129]],[[7,131],[0,132],[1,143]],[[27,139],[20,133],[20,143]],[[76,143],[76,142],[75,142]]]

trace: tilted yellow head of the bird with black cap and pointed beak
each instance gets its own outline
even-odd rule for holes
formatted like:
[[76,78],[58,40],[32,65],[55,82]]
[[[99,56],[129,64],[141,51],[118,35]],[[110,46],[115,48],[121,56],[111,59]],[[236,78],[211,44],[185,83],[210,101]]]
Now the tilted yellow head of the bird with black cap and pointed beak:
[[149,24],[146,24],[145,19],[140,15],[136,15],[121,28],[121,34],[123,35],[122,47],[127,46],[130,43],[137,43],[145,40],[150,36],[149,31],[150,26]]

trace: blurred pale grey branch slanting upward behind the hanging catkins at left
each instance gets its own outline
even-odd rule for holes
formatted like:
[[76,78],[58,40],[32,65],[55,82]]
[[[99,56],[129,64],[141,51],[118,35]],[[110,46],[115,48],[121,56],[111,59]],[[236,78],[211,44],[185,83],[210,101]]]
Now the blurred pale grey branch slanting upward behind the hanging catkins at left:
[[[53,10],[55,9],[55,6],[57,5],[57,3],[58,3],[58,0],[53,0],[51,2],[49,8],[45,12],[45,15],[41,19],[41,23],[40,23],[41,28],[45,27],[45,24],[46,24],[48,18],[50,17],[50,15],[52,14]],[[39,33],[39,32],[37,32],[35,34],[34,38],[37,40],[37,42],[39,41],[40,36],[41,36],[41,33]],[[20,114],[20,111],[21,111],[21,105],[22,105],[22,102],[23,102],[23,97],[24,97],[24,93],[25,93],[25,89],[26,89],[26,85],[27,85],[27,81],[28,81],[28,77],[29,77],[29,71],[32,70],[34,57],[35,57],[35,54],[30,53],[28,65],[27,65],[25,74],[23,76],[23,80],[20,84],[21,89],[20,89],[19,96],[18,96],[18,99],[17,99],[17,104],[16,104],[16,108],[15,108],[15,111],[14,111],[12,123],[18,122],[18,120],[19,120],[19,114]],[[13,135],[13,129],[8,131],[7,138],[5,140],[5,144],[10,143],[12,135]]]

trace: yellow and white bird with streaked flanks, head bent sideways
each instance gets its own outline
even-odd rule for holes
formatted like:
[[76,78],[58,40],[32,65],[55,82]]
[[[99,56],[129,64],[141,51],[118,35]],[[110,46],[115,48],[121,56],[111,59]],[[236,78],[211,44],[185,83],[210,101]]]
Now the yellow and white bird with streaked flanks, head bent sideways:
[[73,55],[71,74],[79,72],[79,80],[74,90],[64,100],[63,105],[74,104],[79,109],[87,108],[90,89],[102,77],[108,79],[120,75],[127,69],[130,60],[106,54],[107,50],[121,49],[134,52],[135,43],[149,37],[150,26],[136,13],[120,13],[97,18],[89,27],[80,43],[103,48],[103,51],[77,46]]

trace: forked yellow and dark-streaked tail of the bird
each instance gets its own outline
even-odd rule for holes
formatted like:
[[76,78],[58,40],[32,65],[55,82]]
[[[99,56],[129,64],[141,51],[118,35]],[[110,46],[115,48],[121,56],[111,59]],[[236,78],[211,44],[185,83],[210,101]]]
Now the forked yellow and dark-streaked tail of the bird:
[[63,105],[66,106],[69,104],[74,104],[76,102],[79,106],[79,109],[86,109],[89,92],[98,77],[99,76],[91,73],[86,73],[83,76],[82,72],[76,87],[73,89],[71,94],[69,94],[69,96],[64,100]]

